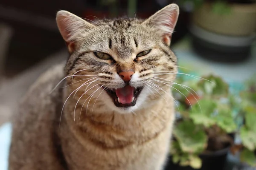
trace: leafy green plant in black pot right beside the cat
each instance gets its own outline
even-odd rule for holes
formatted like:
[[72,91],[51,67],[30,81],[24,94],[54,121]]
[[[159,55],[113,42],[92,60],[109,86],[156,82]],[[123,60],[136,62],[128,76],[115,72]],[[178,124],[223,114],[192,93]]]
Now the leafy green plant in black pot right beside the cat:
[[224,168],[236,130],[228,100],[229,87],[220,77],[204,78],[178,77],[173,85],[179,117],[166,170]]

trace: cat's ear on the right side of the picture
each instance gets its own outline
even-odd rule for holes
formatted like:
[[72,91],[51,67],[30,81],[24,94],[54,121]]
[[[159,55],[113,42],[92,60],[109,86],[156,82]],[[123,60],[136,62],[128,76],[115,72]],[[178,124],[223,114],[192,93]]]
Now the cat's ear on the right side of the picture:
[[145,20],[143,24],[156,28],[161,34],[163,42],[169,46],[178,16],[179,7],[173,3],[157,11],[154,15]]

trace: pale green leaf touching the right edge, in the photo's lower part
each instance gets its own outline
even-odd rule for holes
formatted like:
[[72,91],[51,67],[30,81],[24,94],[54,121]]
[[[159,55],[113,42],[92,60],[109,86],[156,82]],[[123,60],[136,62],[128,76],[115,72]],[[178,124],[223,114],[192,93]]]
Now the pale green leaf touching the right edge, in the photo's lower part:
[[247,147],[248,150],[253,151],[256,149],[256,131],[243,126],[240,130],[240,136],[242,144]]

